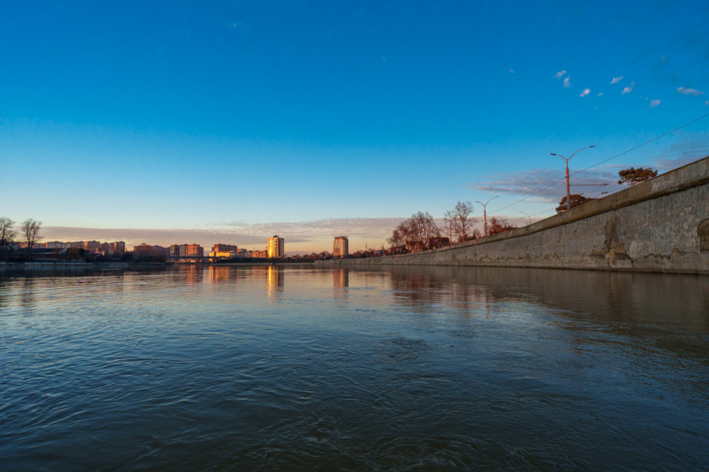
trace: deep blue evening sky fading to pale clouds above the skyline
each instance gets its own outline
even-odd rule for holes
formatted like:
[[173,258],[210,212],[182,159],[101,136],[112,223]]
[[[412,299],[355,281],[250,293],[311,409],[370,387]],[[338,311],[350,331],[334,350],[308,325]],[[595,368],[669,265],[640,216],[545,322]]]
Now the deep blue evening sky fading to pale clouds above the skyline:
[[352,251],[554,215],[552,152],[595,145],[586,196],[709,155],[705,1],[2,2],[0,45],[0,216],[45,241]]

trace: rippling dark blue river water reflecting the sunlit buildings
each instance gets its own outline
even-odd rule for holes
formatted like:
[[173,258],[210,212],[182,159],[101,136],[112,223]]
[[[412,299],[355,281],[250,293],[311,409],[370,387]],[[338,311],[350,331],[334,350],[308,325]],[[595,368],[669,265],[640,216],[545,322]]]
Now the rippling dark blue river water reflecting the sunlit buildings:
[[0,469],[707,470],[709,277],[0,276]]

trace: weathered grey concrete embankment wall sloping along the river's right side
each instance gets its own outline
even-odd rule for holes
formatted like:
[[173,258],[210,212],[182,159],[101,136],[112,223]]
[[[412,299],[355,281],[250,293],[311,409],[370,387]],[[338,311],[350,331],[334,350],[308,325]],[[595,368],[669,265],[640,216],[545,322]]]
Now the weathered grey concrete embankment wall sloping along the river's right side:
[[709,157],[516,230],[323,266],[509,266],[709,274]]

